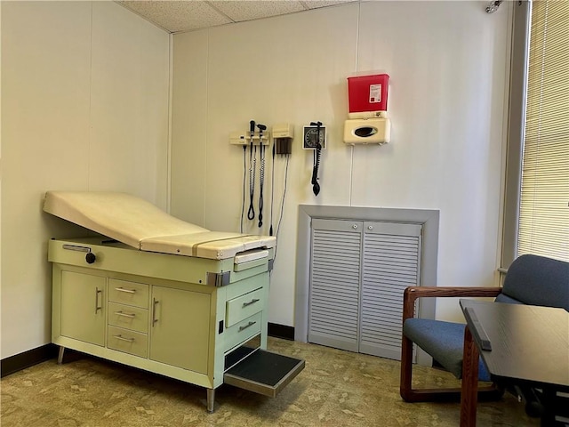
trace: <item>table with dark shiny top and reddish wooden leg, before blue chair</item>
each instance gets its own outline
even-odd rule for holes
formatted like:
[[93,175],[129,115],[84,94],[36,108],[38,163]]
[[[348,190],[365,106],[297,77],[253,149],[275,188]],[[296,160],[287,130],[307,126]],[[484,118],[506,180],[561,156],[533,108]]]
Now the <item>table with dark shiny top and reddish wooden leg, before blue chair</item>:
[[[541,425],[554,425],[549,403],[555,401],[557,391],[569,391],[569,312],[501,302],[461,299],[460,303],[467,319],[461,427],[476,425],[478,355],[494,382],[542,389],[545,414]],[[488,347],[491,350],[485,350]]]

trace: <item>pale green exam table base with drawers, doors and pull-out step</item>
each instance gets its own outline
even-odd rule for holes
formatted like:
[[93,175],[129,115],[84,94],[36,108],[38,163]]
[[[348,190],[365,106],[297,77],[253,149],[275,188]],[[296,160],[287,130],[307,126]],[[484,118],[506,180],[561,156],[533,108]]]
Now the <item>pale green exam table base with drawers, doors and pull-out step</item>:
[[[203,386],[210,412],[222,383],[274,397],[304,367],[265,350],[268,258],[236,266],[85,238],[51,240],[49,261],[60,363],[68,348]],[[231,271],[229,283],[208,284],[211,271]],[[262,366],[267,384],[246,377]]]

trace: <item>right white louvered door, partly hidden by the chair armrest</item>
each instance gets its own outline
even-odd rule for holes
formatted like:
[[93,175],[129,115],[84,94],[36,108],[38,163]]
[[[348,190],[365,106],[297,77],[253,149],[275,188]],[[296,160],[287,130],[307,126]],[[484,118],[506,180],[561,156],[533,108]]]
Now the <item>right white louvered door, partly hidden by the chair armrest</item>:
[[401,359],[403,293],[420,286],[421,225],[365,222],[359,351]]

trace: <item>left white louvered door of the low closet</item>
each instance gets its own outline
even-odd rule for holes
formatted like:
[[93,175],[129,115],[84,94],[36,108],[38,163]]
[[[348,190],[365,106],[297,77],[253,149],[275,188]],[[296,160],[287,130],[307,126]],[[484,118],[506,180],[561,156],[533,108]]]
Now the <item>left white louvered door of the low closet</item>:
[[357,351],[362,227],[312,220],[309,342]]

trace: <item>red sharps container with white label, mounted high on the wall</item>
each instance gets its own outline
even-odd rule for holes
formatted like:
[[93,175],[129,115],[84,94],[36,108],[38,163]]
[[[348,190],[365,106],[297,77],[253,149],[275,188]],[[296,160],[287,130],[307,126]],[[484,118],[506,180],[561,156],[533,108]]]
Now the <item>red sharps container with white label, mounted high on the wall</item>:
[[[349,116],[363,117],[369,111],[387,111],[389,75],[348,77]],[[370,117],[370,114],[364,114]]]

